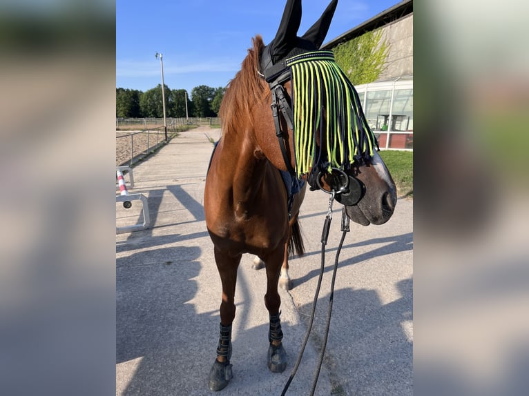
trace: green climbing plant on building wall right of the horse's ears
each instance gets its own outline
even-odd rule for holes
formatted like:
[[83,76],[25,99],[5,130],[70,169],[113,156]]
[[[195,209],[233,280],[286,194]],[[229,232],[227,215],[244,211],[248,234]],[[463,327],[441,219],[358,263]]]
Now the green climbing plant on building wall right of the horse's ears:
[[333,49],[336,63],[354,85],[371,83],[385,69],[389,45],[382,30],[364,33]]

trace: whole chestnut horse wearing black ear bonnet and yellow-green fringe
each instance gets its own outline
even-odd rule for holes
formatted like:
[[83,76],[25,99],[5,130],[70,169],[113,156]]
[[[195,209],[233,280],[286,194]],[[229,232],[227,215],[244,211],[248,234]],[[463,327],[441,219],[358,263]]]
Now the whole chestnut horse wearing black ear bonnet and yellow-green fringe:
[[[289,253],[294,250],[300,256],[303,253],[298,226],[299,208],[305,195],[305,184],[301,179],[307,180],[313,187],[311,189],[330,191],[343,186],[345,192],[340,196],[341,200],[338,195],[336,200],[345,205],[347,216],[358,224],[383,224],[393,214],[396,204],[394,181],[381,157],[372,150],[376,139],[359,108],[358,95],[352,84],[340,77],[340,72],[325,72],[335,75],[329,77],[329,81],[341,81],[341,97],[349,98],[345,106],[349,106],[349,110],[351,106],[359,109],[354,122],[346,125],[346,129],[356,128],[357,134],[350,135],[353,137],[349,138],[349,143],[340,146],[340,142],[347,140],[343,132],[345,124],[333,120],[344,117],[340,112],[328,111],[338,103],[333,99],[333,95],[338,95],[338,89],[330,90],[325,85],[327,82],[321,84],[320,92],[316,92],[319,95],[316,99],[321,99],[318,102],[321,104],[315,109],[308,108],[308,103],[313,101],[296,100],[294,93],[298,91],[293,88],[298,80],[292,77],[295,75],[294,66],[289,65],[289,61],[285,63],[285,59],[303,62],[305,58],[319,57],[327,59],[324,63],[330,62],[335,70],[331,52],[318,52],[318,49],[327,34],[336,3],[337,0],[331,1],[314,26],[298,37],[301,3],[300,0],[287,0],[276,37],[268,46],[264,46],[260,36],[252,40],[253,47],[248,50],[241,70],[229,83],[222,101],[222,136],[211,157],[204,190],[206,226],[222,280],[220,338],[209,375],[211,390],[224,388],[231,379],[231,324],[235,318],[237,270],[243,253],[256,255],[265,263],[267,293],[264,304],[269,311],[270,326],[268,366],[276,373],[285,370],[287,357],[281,342],[278,280],[282,267],[286,273]],[[303,67],[309,69],[313,66]],[[307,79],[313,80],[316,78]],[[311,88],[309,91],[315,90]],[[299,123],[305,114],[314,126]],[[300,164],[303,153],[296,152],[296,147],[300,147],[296,146],[296,139],[300,139],[296,130],[303,128],[319,131],[316,137],[307,137],[309,143],[313,142],[310,143],[311,152],[305,156],[309,168]],[[326,146],[330,147],[327,152]],[[338,152],[336,161],[330,158],[333,152]],[[280,171],[287,177],[282,177]],[[345,181],[336,181],[336,178],[340,179],[339,175],[346,175]],[[318,187],[314,184],[315,178]],[[297,190],[296,194],[294,190]]]

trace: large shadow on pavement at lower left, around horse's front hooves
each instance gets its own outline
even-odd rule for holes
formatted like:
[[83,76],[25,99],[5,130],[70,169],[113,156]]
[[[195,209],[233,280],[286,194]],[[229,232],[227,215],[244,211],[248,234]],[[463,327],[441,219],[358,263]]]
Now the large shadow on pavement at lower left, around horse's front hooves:
[[[208,395],[207,378],[218,341],[218,303],[214,313],[198,314],[195,301],[202,264],[198,247],[161,248],[117,259],[116,364],[122,395]],[[215,273],[215,277],[218,275]],[[204,286],[202,286],[204,287]],[[268,324],[251,325],[244,277],[239,279],[238,315],[233,323],[233,379],[225,395],[278,395],[296,360],[300,339],[283,323],[289,366],[267,367]],[[209,290],[220,295],[219,290]],[[307,365],[308,366],[308,365]],[[303,384],[305,385],[305,384]],[[241,393],[242,392],[242,393]],[[319,393],[318,393],[319,394]]]

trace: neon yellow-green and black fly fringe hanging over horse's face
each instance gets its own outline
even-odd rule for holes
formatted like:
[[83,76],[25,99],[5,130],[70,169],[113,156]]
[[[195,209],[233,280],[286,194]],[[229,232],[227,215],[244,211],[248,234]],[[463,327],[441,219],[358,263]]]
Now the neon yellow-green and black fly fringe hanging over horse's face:
[[[334,61],[332,51],[306,52],[286,61],[293,81],[294,141],[298,177],[325,161],[344,168],[378,149],[353,84]],[[325,115],[325,117],[324,117]],[[326,135],[323,136],[323,131]],[[316,132],[325,147],[316,152]],[[327,154],[322,156],[322,151]]]

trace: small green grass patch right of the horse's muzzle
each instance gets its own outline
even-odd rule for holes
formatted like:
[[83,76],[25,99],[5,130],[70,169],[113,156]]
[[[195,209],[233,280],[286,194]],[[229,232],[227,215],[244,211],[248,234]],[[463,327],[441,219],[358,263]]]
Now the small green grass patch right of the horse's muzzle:
[[413,152],[385,150],[378,154],[392,174],[398,197],[413,197]]

